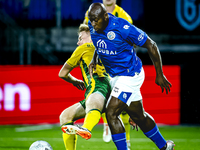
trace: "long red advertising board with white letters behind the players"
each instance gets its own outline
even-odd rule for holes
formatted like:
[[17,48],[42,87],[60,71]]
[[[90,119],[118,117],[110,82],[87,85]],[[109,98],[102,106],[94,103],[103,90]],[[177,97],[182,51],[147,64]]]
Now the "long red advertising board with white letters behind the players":
[[[84,91],[58,77],[61,67],[0,66],[0,124],[58,123],[65,108],[83,100]],[[168,95],[161,93],[155,84],[154,67],[144,66],[144,70],[145,82],[141,91],[145,110],[157,123],[179,124],[180,67],[163,66],[172,83]],[[80,68],[75,68],[72,75],[82,79]]]

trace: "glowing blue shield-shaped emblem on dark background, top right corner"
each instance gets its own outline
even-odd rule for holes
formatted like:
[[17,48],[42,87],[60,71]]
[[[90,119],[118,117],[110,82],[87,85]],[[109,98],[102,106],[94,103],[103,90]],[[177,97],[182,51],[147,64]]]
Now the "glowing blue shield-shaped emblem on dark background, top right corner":
[[196,29],[200,25],[200,1],[176,0],[176,18],[186,30]]

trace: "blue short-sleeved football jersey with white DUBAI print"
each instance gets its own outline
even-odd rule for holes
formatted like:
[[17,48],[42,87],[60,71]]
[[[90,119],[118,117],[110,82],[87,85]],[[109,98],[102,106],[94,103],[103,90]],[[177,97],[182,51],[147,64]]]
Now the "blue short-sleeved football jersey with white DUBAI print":
[[134,76],[140,73],[142,62],[136,55],[133,44],[142,46],[147,35],[128,21],[109,15],[109,24],[104,33],[97,33],[88,22],[97,54],[106,72],[114,76]]

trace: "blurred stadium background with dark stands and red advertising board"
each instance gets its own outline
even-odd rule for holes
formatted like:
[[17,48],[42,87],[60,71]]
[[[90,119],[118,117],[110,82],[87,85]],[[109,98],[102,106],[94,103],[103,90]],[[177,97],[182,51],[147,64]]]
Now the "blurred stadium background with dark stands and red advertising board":
[[[92,2],[101,0],[0,0],[0,125],[58,123],[64,108],[84,98],[58,72],[77,46],[78,26]],[[161,94],[147,51],[137,48],[147,112],[160,124],[199,125],[200,1],[117,4],[157,42],[173,84],[169,95]],[[81,78],[79,69],[73,73]]]

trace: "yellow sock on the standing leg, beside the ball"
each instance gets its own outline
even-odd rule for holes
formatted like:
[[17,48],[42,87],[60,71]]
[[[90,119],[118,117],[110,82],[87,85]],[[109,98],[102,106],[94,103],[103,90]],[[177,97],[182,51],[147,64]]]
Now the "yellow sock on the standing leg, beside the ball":
[[66,150],[76,150],[77,135],[63,133],[63,141]]

